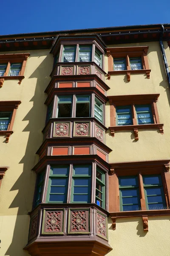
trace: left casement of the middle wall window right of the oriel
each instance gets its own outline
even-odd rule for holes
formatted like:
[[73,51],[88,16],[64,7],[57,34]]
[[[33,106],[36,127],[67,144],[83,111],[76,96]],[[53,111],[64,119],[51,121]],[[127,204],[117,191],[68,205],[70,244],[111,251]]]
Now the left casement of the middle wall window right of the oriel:
[[117,107],[117,125],[132,125],[131,106]]

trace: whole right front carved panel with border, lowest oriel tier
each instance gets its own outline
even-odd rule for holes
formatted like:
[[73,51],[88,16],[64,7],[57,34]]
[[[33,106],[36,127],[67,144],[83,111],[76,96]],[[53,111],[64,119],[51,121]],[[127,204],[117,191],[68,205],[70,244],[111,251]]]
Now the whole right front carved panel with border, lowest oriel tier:
[[89,233],[89,210],[69,210],[68,233]]

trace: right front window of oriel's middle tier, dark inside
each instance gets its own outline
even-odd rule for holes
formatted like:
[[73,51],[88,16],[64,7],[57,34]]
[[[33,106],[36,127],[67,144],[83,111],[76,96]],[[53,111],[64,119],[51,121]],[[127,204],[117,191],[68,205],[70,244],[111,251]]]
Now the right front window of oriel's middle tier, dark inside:
[[76,117],[90,116],[90,96],[76,96]]

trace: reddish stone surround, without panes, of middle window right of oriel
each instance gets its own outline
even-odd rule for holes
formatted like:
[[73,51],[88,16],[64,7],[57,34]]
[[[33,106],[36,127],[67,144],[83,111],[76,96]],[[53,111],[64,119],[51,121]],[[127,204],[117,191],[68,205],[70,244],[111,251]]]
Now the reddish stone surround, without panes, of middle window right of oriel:
[[[114,137],[115,131],[126,131],[133,130],[135,140],[139,140],[138,130],[139,129],[153,129],[158,128],[160,133],[163,134],[163,124],[160,124],[159,114],[156,106],[159,94],[145,94],[145,95],[121,95],[121,96],[108,96],[110,102],[110,116],[111,116],[111,126],[109,127],[111,131],[111,136]],[[150,106],[150,116],[152,117],[152,123],[150,124],[139,124],[138,116],[136,113],[136,105],[149,105]],[[128,106],[131,112],[131,123],[130,125],[117,125],[117,113],[116,108],[120,106]]]

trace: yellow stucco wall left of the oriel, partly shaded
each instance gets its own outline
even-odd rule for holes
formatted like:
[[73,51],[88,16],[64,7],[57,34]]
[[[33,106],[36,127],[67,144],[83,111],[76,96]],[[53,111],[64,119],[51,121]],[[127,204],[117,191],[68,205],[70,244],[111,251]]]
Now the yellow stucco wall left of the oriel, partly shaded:
[[21,101],[9,143],[0,136],[0,166],[8,166],[0,188],[1,256],[28,255],[23,247],[28,242],[28,212],[32,207],[36,178],[31,168],[38,161],[35,153],[42,143],[41,131],[46,116],[44,90],[53,65],[49,50],[25,52],[30,52],[25,79],[20,85],[17,80],[6,80],[0,88],[0,101]]

